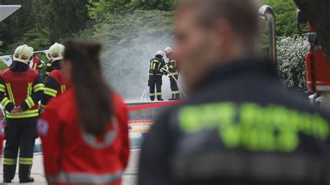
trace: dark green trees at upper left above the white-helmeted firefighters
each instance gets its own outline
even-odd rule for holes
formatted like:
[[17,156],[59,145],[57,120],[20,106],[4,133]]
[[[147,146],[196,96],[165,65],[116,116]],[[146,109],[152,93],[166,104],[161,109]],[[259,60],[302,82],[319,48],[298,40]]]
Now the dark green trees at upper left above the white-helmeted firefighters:
[[35,50],[48,49],[84,29],[90,19],[88,0],[3,0],[3,4],[22,4],[16,13],[0,23],[0,54],[12,54],[19,45]]

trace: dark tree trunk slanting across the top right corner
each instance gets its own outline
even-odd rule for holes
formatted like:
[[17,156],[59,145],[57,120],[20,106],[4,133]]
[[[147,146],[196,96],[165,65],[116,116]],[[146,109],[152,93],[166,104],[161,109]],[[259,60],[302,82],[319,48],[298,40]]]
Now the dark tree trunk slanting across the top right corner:
[[294,0],[294,2],[317,32],[317,38],[330,62],[330,1]]

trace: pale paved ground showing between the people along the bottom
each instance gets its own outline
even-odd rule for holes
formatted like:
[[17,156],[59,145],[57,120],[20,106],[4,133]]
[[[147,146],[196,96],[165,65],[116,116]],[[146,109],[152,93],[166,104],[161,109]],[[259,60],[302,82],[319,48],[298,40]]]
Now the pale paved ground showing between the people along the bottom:
[[[138,161],[139,161],[140,150],[131,150],[131,156],[129,157],[129,166],[125,171],[124,175],[124,185],[135,185],[137,180],[137,171],[138,171]],[[1,160],[2,161],[2,160]],[[2,163],[2,162],[1,162]],[[0,167],[0,179],[2,182],[2,165]],[[34,156],[33,159],[33,168],[31,172],[31,176],[36,180],[36,182],[31,184],[47,184],[45,181],[45,173],[44,168],[42,166],[42,156],[37,155]],[[13,185],[19,184],[18,174],[15,175],[15,179],[13,181]]]

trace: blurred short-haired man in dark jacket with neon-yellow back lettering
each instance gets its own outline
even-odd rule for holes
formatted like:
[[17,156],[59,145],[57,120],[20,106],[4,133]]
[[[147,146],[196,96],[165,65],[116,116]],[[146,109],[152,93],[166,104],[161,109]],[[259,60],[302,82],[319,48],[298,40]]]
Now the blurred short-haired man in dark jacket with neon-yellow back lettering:
[[254,0],[183,0],[175,58],[189,99],[146,136],[139,184],[329,184],[329,116],[258,57]]

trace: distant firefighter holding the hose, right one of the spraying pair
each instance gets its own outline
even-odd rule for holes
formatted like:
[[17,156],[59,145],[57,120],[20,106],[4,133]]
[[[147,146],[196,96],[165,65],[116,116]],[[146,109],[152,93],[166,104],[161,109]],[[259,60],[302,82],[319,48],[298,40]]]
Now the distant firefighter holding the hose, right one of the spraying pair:
[[[172,48],[166,47],[165,54],[169,60],[167,63],[167,67],[168,67],[168,72],[170,72],[170,74],[168,74],[169,75],[168,77],[170,78],[171,90],[172,90],[172,98],[168,99],[168,100],[170,100],[170,101],[180,100],[180,92],[179,92],[178,83],[177,83],[177,81],[179,79],[179,72],[177,69],[176,61],[173,59]],[[176,79],[176,81],[175,81],[175,79]]]

